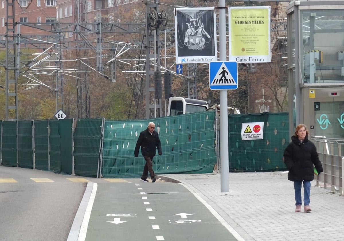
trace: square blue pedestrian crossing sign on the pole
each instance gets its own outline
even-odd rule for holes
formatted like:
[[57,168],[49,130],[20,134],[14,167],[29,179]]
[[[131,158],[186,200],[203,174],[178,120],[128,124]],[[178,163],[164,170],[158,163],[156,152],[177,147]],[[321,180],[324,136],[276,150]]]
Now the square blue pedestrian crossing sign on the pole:
[[210,89],[237,89],[238,63],[235,61],[209,63]]

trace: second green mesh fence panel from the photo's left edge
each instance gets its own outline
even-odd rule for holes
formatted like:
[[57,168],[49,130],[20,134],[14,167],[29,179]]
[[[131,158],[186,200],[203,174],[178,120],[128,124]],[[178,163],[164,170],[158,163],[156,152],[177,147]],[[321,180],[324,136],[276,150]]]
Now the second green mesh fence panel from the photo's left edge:
[[32,121],[18,120],[18,165],[33,168]]

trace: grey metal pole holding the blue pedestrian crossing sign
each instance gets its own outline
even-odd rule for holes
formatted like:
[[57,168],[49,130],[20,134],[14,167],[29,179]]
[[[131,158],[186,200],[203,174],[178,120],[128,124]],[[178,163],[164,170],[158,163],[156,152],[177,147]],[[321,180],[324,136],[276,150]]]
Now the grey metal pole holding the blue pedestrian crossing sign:
[[[220,61],[226,61],[226,4],[225,0],[219,0],[219,46]],[[229,191],[228,180],[228,118],[227,118],[227,90],[220,90],[220,161],[221,161],[221,193]]]

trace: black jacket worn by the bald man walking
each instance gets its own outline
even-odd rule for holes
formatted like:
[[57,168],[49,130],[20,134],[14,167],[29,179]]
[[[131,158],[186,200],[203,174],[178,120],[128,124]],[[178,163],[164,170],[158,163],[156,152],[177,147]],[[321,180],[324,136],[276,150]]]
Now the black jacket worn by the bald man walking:
[[156,131],[153,131],[152,134],[148,131],[148,128],[144,131],[141,131],[139,139],[137,140],[135,146],[135,157],[139,156],[140,146],[142,156],[155,156],[155,146],[158,148],[159,155],[161,155],[161,142],[159,139],[158,132]]

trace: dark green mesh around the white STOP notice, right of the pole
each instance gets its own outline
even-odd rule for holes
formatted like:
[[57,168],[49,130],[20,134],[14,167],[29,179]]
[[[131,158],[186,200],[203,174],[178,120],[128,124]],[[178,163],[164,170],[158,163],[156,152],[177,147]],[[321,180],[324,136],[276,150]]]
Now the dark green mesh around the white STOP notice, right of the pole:
[[[289,114],[228,115],[229,171],[283,170],[284,149],[289,144]],[[241,140],[241,123],[264,122],[262,140]]]

